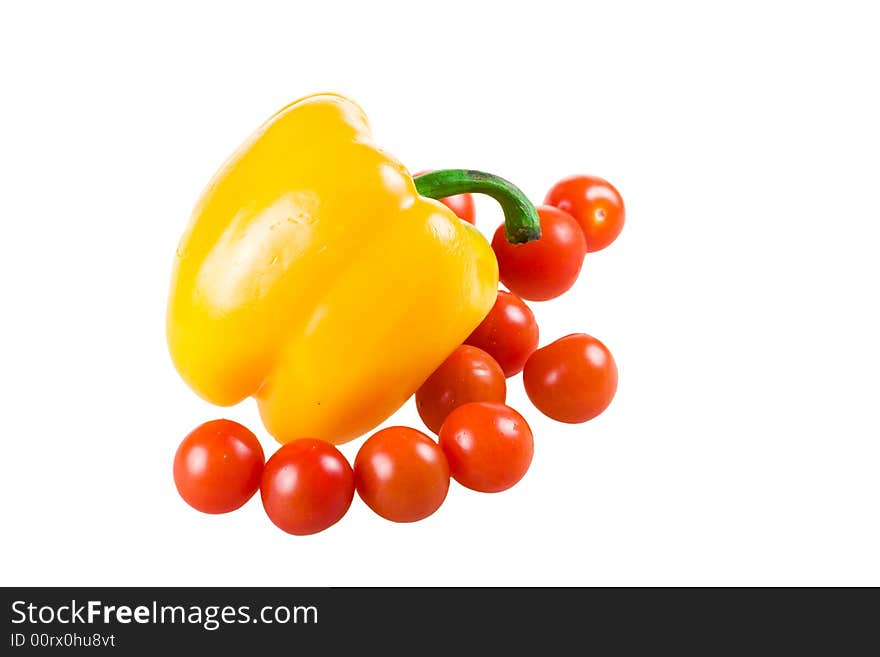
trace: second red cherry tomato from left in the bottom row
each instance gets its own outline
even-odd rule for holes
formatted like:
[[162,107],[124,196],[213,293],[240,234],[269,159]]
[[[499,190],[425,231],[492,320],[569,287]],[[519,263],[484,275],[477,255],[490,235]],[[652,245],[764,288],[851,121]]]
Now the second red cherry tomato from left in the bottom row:
[[354,498],[354,473],[330,443],[294,440],[266,463],[260,495],[266,514],[278,527],[298,536],[314,534],[348,511]]

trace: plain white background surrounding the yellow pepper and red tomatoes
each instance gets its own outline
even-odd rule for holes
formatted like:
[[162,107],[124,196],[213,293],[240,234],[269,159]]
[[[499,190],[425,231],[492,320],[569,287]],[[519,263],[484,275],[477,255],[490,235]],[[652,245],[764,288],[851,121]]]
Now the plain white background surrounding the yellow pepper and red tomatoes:
[[[880,585],[877,20],[712,4],[3,3],[0,582]],[[275,445],[251,401],[180,381],[164,312],[203,185],[322,90],[411,170],[536,201],[570,173],[618,186],[621,238],[533,308],[542,344],[605,341],[620,389],[567,426],[512,379],[536,435],[518,486],[453,484],[411,525],[355,498],[298,538],[258,496],[178,498],[200,422]],[[412,402],[393,422],[420,426]]]

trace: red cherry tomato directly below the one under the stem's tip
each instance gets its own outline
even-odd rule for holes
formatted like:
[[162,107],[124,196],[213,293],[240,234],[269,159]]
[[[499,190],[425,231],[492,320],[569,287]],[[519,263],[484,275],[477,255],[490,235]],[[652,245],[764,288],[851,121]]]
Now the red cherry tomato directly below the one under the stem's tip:
[[511,377],[522,371],[526,359],[537,348],[538,323],[522,299],[498,290],[492,310],[464,342],[492,356],[504,376]]

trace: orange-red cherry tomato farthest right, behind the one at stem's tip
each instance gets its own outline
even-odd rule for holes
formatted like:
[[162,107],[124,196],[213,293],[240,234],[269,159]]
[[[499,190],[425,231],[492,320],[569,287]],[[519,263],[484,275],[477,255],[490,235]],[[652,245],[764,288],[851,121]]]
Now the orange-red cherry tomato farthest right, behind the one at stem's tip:
[[547,205],[568,212],[580,224],[587,239],[587,251],[599,251],[611,244],[626,219],[623,199],[607,180],[596,176],[570,176],[547,192]]

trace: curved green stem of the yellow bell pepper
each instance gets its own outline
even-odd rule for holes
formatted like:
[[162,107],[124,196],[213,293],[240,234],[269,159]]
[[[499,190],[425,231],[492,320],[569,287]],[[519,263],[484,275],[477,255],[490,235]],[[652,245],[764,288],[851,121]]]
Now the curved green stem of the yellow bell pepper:
[[504,178],[470,169],[441,169],[414,178],[416,190],[428,198],[456,194],[486,194],[504,211],[504,235],[511,244],[525,244],[541,238],[538,211],[522,190]]

